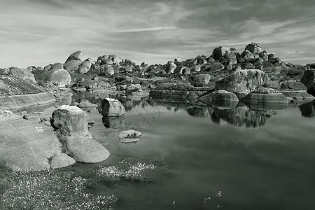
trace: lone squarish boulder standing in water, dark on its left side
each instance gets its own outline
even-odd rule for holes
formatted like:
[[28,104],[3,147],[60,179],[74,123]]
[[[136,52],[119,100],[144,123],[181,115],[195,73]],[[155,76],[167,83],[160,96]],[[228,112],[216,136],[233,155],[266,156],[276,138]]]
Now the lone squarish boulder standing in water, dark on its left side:
[[123,116],[125,107],[117,99],[106,98],[102,100],[102,115],[107,117]]

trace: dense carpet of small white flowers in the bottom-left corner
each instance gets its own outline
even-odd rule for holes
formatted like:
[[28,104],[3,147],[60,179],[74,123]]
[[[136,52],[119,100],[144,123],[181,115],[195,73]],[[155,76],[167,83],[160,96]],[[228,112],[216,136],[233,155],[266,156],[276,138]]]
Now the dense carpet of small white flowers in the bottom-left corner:
[[11,188],[2,197],[3,209],[87,210],[112,209],[114,195],[100,196],[85,192],[86,180],[71,172],[13,172]]

